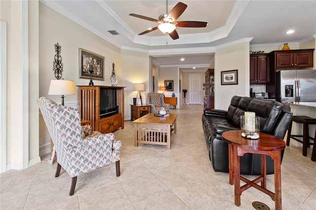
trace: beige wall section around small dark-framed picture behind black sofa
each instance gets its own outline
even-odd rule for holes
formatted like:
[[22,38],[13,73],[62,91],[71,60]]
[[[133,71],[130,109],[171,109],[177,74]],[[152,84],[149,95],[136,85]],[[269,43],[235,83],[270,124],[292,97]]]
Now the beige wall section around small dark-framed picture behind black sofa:
[[[226,70],[238,70],[237,85],[221,85],[221,71]],[[215,52],[215,108],[227,110],[235,95],[249,96],[249,42]]]

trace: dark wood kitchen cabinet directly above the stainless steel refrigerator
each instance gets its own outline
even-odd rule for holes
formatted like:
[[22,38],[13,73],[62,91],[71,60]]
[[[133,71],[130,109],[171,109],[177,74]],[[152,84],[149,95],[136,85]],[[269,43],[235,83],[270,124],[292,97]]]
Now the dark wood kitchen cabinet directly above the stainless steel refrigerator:
[[275,51],[276,68],[313,67],[314,49]]

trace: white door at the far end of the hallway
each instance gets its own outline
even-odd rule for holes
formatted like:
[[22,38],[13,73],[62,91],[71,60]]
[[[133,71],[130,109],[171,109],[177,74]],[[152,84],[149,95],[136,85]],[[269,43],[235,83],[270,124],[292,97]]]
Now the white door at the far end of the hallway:
[[201,74],[189,74],[189,104],[201,104]]

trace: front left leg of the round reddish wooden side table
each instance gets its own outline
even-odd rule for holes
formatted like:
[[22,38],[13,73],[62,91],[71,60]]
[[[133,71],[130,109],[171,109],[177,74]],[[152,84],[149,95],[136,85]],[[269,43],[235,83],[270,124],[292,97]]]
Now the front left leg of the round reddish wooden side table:
[[[235,147],[235,146],[234,146]],[[233,148],[234,152],[234,187],[235,187],[235,205],[240,206],[240,157],[238,156],[238,147]]]

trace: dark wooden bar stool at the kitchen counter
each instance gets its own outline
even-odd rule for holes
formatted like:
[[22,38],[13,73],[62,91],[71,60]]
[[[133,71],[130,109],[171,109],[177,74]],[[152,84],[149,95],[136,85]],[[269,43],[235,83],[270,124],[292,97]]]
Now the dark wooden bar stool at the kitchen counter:
[[[291,135],[291,130],[292,130],[292,123],[296,122],[296,123],[302,123],[303,124],[303,135]],[[307,147],[309,145],[313,145],[314,144],[314,148],[313,148],[313,153],[312,153],[312,160],[316,161],[316,149],[315,149],[315,138],[312,138],[309,136],[309,130],[308,130],[308,126],[309,125],[316,125],[316,119],[312,118],[312,117],[308,117],[308,116],[299,116],[299,115],[295,115],[292,116],[292,120],[288,126],[288,130],[287,130],[287,138],[286,138],[286,145],[289,146],[290,145],[290,139],[292,138],[293,140],[297,140],[298,142],[303,143],[303,155],[307,156]],[[303,140],[299,140],[296,137],[303,137]],[[314,143],[310,143],[310,139],[314,140]],[[315,151],[315,152],[314,152]],[[315,156],[313,158],[313,156]]]

